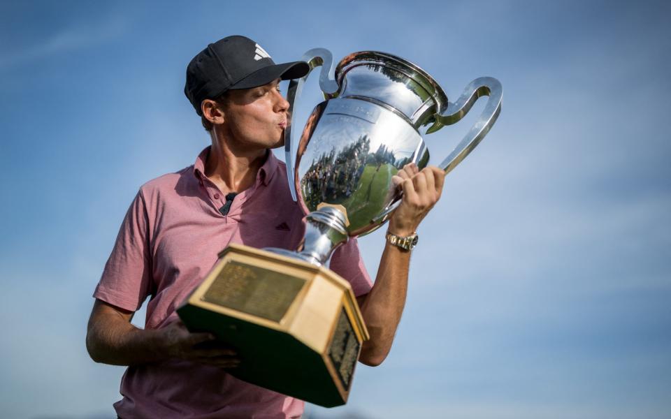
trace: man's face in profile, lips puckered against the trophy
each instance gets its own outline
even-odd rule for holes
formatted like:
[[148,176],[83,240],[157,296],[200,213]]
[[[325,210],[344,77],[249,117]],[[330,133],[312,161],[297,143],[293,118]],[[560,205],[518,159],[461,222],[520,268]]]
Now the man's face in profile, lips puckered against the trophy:
[[231,140],[264,149],[284,144],[289,102],[280,93],[280,79],[253,89],[231,90],[228,99],[224,115]]

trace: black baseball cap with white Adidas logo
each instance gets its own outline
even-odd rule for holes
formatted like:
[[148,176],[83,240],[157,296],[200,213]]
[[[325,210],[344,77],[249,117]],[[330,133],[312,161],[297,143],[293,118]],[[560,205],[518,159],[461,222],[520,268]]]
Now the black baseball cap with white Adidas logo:
[[198,115],[204,99],[232,89],[251,89],[279,78],[301,78],[310,70],[305,61],[275,64],[266,50],[245,36],[226,36],[199,52],[187,66],[184,93]]

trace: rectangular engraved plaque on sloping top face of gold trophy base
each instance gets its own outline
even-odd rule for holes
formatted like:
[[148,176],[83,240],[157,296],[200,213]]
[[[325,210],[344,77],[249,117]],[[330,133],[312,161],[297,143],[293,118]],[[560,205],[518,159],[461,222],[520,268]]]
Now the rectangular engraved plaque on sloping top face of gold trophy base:
[[303,285],[303,279],[231,260],[203,301],[279,322]]

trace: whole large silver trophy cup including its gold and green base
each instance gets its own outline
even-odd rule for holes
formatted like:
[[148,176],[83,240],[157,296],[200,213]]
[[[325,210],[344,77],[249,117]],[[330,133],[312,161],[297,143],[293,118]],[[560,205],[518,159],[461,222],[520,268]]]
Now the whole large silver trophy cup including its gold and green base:
[[[310,71],[322,66],[326,101],[300,139],[290,124],[285,131],[291,193],[307,219],[301,245],[290,251],[230,244],[178,313],[189,330],[214,333],[247,359],[231,370],[241,380],[339,406],[369,335],[352,287],[326,262],[333,249],[382,226],[398,207],[392,177],[407,163],[428,163],[421,133],[454,124],[489,95],[482,117],[440,167],[449,172],[470,153],[498,116],[501,86],[479,78],[449,103],[430,75],[390,54],[357,52],[335,68],[327,50],[303,59]],[[290,111],[308,75],[290,82]]]

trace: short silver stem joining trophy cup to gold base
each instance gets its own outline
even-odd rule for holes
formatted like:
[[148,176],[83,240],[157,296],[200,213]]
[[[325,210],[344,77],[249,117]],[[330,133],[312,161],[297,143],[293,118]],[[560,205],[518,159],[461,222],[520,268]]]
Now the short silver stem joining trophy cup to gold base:
[[298,257],[315,265],[324,265],[336,247],[347,242],[345,214],[333,207],[322,207],[305,216],[305,236]]

